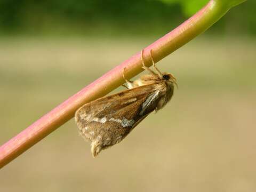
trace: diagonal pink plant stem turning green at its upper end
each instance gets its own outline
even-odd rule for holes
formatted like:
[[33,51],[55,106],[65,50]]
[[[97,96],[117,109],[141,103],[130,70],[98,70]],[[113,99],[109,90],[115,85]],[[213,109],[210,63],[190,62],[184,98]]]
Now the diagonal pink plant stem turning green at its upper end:
[[[193,17],[146,47],[144,51],[145,64],[147,66],[151,65],[149,63],[150,50],[153,50],[154,60],[159,61],[212,26],[231,7],[223,4],[222,1],[224,0],[211,0]],[[123,84],[122,71],[124,67],[126,67],[125,72],[127,78],[139,74],[142,71],[140,52],[110,70],[90,85],[84,87],[84,89],[38,119],[35,123],[27,127],[27,129],[7,141],[0,147],[0,167],[11,162],[15,157],[18,157],[28,148],[46,137],[46,135],[73,118],[75,111],[84,103],[100,98]]]

